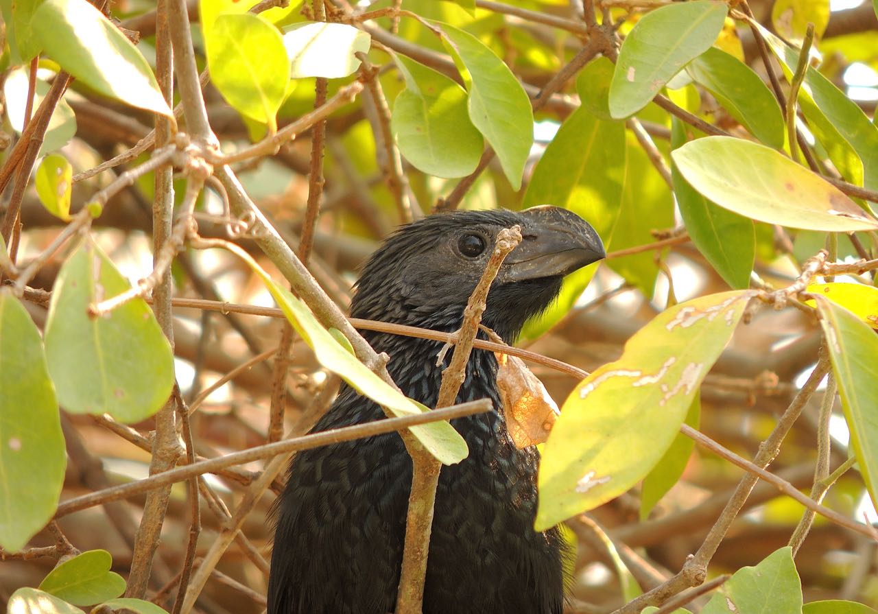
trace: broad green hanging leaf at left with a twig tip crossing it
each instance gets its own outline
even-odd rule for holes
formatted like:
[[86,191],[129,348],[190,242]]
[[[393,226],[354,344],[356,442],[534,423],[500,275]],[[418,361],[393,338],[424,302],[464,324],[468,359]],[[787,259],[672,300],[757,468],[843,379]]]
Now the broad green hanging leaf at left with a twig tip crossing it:
[[155,414],[174,385],[174,355],[146,301],[101,317],[88,308],[131,285],[86,239],[58,273],[46,324],[46,354],[58,400],[74,414],[107,412],[133,423]]

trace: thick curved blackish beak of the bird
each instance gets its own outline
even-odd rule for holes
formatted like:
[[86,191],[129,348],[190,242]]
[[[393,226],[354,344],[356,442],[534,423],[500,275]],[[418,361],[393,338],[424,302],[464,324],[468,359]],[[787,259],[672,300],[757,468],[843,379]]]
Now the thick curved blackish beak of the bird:
[[607,256],[591,224],[572,211],[542,205],[520,215],[522,242],[503,263],[503,281],[564,276]]

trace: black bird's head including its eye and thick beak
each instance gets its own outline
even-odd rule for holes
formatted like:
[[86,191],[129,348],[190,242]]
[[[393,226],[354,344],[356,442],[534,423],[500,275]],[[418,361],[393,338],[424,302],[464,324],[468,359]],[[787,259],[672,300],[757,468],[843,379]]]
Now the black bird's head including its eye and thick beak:
[[566,274],[605,256],[601,238],[576,213],[548,205],[463,211],[399,228],[363,266],[351,315],[458,329],[498,233],[515,225],[522,242],[503,261],[482,317],[511,341],[529,317],[551,305]]

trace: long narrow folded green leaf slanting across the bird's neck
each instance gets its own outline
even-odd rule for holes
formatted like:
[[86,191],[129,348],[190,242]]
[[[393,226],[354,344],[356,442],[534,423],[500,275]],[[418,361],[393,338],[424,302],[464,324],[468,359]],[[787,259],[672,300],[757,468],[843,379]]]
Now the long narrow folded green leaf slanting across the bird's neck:
[[[232,249],[232,251],[262,278],[263,284],[277,301],[277,306],[284,312],[292,328],[296,329],[308,347],[314,350],[314,356],[317,357],[320,365],[344,379],[358,393],[388,408],[393,415],[421,414],[430,410],[418,401],[407,398],[357,360],[356,356],[320,325],[305,303],[293,296],[290,291],[275,284],[270,275],[256,264],[247,252],[241,249]],[[414,437],[417,437],[418,441],[444,465],[459,463],[469,454],[464,437],[460,437],[457,430],[454,430],[447,421],[421,424],[413,426],[410,430]]]

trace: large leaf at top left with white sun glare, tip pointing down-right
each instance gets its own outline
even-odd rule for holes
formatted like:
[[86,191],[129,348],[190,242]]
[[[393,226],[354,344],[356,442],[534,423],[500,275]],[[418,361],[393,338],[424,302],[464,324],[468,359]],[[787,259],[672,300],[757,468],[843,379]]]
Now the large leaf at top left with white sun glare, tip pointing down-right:
[[91,88],[162,115],[171,115],[149,63],[87,0],[45,0],[32,20],[45,54]]

